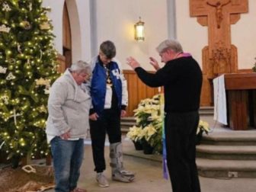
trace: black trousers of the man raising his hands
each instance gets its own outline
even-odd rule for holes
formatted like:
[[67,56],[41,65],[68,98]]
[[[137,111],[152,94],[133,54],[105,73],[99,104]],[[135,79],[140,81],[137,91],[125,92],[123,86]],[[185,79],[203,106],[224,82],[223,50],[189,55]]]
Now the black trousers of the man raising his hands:
[[198,122],[197,111],[165,116],[167,162],[173,192],[200,192],[195,144]]

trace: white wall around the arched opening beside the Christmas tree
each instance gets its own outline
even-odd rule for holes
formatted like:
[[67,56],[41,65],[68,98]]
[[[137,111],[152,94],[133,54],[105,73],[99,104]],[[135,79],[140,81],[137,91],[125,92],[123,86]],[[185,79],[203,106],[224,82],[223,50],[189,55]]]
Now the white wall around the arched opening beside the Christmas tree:
[[[43,0],[43,6],[52,8],[48,14],[53,21],[53,34],[56,35],[56,50],[62,54],[62,13],[65,0]],[[72,60],[91,57],[91,32],[89,0],[66,1],[72,33]]]

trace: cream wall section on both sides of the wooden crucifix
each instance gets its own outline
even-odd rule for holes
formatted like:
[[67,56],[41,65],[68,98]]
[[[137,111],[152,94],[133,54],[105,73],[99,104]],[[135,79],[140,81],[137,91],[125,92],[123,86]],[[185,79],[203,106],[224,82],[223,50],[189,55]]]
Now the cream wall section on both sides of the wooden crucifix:
[[[251,69],[256,57],[256,1],[248,0],[249,12],[241,14],[241,19],[231,27],[232,44],[238,48],[238,69]],[[184,51],[192,53],[202,65],[202,49],[208,44],[208,27],[190,18],[189,0],[176,1],[177,37]]]

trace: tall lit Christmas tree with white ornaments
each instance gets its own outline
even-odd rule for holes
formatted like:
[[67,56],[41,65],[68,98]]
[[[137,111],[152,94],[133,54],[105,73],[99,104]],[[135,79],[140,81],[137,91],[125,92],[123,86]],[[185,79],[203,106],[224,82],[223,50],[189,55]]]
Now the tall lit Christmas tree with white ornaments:
[[0,0],[0,150],[8,158],[49,154],[47,100],[59,76],[42,0]]

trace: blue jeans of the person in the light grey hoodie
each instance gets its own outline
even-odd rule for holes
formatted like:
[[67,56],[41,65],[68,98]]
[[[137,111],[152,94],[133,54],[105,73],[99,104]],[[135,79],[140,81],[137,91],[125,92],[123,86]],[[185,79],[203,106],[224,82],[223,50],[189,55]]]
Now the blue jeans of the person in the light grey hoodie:
[[50,142],[53,154],[56,192],[69,192],[77,186],[84,158],[84,139],[74,141],[56,136]]

